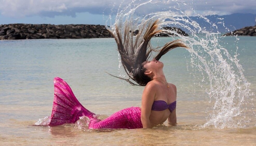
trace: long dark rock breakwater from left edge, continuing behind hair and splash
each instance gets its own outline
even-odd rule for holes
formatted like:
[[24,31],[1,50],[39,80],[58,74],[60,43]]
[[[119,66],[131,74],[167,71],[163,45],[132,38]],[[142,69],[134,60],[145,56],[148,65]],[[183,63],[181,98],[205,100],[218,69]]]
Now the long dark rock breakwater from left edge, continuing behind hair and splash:
[[[178,34],[188,36],[183,30],[175,27],[163,29],[176,31]],[[135,30],[133,32],[136,35]],[[158,33],[156,36],[176,36],[173,33]],[[2,24],[0,25],[0,40],[22,39],[88,39],[112,37],[104,25],[88,24]]]

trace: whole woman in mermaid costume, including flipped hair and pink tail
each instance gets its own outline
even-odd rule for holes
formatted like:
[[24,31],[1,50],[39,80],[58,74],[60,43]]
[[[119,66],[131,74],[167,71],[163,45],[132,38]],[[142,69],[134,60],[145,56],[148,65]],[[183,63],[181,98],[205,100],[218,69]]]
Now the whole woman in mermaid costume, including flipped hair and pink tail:
[[141,24],[136,34],[132,33],[129,25],[125,25],[123,35],[118,27],[115,31],[109,30],[115,38],[122,65],[129,76],[124,80],[132,85],[146,86],[142,94],[141,108],[123,109],[101,121],[78,102],[65,81],[56,77],[52,116],[46,125],[74,123],[81,116],[89,118],[88,128],[92,129],[152,128],[167,119],[170,124],[176,124],[176,87],[167,83],[163,73],[163,63],[158,60],[169,50],[176,47],[186,48],[186,46],[178,40],[169,42],[153,60],[148,61],[154,50],[151,48],[150,39],[162,31],[157,30],[157,23],[158,21]]

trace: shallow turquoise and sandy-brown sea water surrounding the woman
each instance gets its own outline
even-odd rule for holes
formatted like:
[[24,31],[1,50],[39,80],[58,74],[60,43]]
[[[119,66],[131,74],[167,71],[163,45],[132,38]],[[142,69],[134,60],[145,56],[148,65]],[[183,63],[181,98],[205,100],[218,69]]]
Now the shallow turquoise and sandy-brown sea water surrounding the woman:
[[[141,105],[143,87],[108,74],[126,78],[113,38],[0,41],[0,144],[255,145],[256,37],[216,35],[231,56],[229,59],[227,52],[217,49],[230,75],[212,80],[205,68],[210,68],[214,78],[222,78],[218,70],[223,70],[224,61],[214,67],[216,58],[207,58],[204,51],[199,51],[199,56],[209,61],[205,67],[191,50],[169,51],[160,61],[167,81],[177,87],[177,126],[166,121],[152,129],[35,126],[39,119],[51,115],[56,76],[70,85],[83,106],[101,118]],[[175,39],[155,37],[151,44],[163,46]],[[231,89],[224,93],[225,88]]]

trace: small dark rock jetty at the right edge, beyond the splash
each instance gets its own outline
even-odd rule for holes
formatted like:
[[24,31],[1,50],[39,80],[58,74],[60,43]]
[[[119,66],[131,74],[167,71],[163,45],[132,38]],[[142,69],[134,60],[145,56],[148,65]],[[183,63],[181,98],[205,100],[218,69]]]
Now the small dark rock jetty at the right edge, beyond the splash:
[[248,35],[248,36],[256,36],[256,25],[255,26],[247,26],[241,29],[234,30],[233,32],[226,33],[224,35]]

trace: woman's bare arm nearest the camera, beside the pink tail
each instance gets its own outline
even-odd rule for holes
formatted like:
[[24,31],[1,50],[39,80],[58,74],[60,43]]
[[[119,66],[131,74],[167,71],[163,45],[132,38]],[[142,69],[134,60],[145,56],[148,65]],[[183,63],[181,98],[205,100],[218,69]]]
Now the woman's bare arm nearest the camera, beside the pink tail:
[[151,108],[155,100],[156,89],[154,83],[148,83],[142,93],[141,99],[141,122],[143,128],[152,128],[149,121]]

